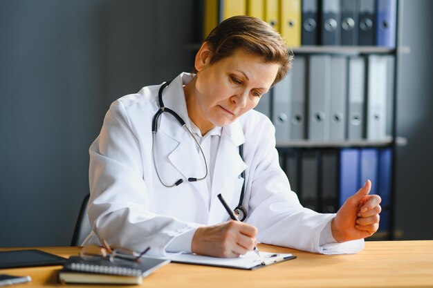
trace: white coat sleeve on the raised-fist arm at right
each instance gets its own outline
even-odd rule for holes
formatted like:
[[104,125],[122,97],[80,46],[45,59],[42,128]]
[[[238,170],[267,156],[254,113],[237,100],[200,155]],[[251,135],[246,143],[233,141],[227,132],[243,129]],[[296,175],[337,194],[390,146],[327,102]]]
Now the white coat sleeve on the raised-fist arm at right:
[[254,137],[257,143],[248,171],[250,216],[247,222],[257,227],[257,240],[315,253],[356,253],[362,250],[364,240],[320,243],[329,238],[326,233],[330,231],[335,214],[316,213],[302,207],[279,166],[275,128],[270,121],[255,126],[255,133],[259,137]]

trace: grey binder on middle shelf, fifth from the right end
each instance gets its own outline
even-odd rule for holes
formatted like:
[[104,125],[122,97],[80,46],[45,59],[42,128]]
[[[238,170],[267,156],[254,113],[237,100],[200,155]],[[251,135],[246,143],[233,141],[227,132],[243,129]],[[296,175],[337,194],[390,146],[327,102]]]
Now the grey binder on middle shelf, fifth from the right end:
[[291,90],[291,121],[289,123],[291,140],[305,139],[306,124],[306,57],[293,59]]

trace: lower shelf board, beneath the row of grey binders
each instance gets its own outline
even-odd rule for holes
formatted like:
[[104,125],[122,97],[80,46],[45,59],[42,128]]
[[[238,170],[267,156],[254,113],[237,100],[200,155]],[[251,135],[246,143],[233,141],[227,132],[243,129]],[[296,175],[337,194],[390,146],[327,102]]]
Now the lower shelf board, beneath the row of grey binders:
[[311,141],[293,140],[277,142],[277,148],[344,148],[344,147],[387,147],[393,144],[392,138],[384,140],[344,140],[344,141]]

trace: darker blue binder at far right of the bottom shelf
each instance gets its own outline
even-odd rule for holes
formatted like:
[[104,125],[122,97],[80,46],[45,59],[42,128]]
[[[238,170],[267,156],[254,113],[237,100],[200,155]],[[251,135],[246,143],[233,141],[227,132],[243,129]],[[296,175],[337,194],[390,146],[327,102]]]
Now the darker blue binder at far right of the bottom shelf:
[[379,175],[378,175],[378,195],[382,198],[380,206],[379,231],[388,231],[389,229],[389,207],[391,194],[391,169],[392,169],[392,151],[391,148],[384,148],[379,155]]

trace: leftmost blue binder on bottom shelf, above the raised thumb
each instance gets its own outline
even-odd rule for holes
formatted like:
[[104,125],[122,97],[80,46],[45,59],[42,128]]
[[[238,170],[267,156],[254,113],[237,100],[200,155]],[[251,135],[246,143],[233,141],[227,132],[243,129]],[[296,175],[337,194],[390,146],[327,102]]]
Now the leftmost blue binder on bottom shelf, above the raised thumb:
[[343,148],[340,151],[340,207],[353,193],[356,193],[360,179],[360,151]]

